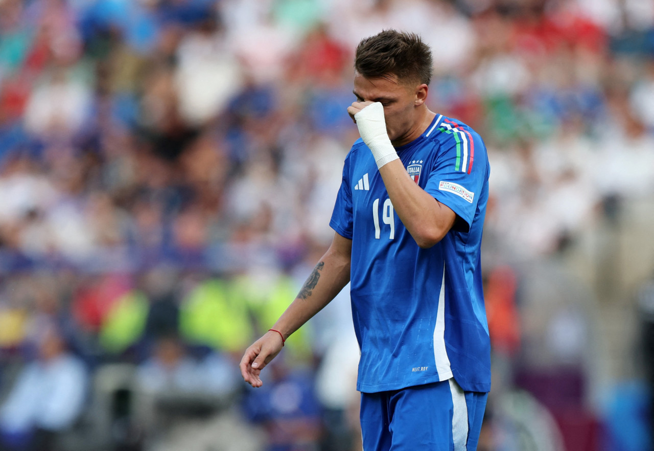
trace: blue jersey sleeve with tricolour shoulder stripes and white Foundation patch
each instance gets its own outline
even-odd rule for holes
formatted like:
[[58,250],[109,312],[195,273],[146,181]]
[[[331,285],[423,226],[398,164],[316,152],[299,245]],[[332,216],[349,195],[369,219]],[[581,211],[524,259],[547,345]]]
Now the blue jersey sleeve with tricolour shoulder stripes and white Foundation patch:
[[470,230],[479,195],[487,179],[487,154],[481,137],[451,120],[440,125],[441,152],[430,169],[424,190],[450,207]]

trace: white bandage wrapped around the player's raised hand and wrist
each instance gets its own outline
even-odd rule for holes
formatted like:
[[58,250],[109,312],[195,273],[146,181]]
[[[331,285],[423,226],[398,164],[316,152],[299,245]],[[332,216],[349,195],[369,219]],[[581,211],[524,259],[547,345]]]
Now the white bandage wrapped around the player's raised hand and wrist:
[[381,168],[399,158],[388,138],[384,107],[381,103],[371,103],[358,111],[358,113],[354,114],[354,120],[356,120],[356,126],[359,129],[361,138],[372,151],[377,168]]

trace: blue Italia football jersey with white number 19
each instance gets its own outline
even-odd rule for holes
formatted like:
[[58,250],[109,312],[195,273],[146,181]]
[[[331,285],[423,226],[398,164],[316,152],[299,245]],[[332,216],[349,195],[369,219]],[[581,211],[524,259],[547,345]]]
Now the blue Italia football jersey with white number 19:
[[436,115],[396,151],[411,178],[458,216],[421,249],[402,221],[368,146],[345,158],[330,226],[353,240],[351,299],[361,349],[357,389],[372,393],[447,380],[490,390],[490,339],[480,247],[489,162],[470,127]]

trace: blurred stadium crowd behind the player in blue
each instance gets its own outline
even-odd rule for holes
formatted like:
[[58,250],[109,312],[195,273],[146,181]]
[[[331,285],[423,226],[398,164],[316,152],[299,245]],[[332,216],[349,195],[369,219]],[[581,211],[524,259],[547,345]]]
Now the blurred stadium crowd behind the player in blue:
[[479,449],[651,449],[653,2],[0,0],[5,449],[358,449],[347,293],[236,365],[330,242],[385,27],[489,150]]

